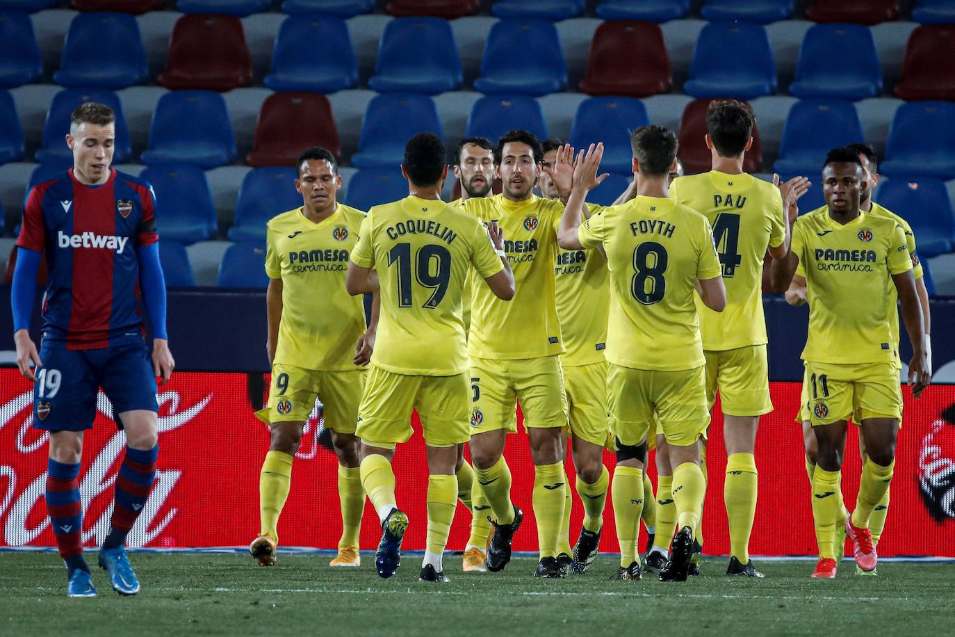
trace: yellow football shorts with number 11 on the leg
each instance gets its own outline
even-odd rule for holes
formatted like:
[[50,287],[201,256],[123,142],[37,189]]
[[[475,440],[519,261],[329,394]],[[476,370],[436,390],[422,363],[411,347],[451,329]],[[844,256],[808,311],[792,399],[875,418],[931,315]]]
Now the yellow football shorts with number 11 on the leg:
[[868,418],[902,423],[902,388],[895,363],[836,364],[806,361],[802,410],[813,426]]

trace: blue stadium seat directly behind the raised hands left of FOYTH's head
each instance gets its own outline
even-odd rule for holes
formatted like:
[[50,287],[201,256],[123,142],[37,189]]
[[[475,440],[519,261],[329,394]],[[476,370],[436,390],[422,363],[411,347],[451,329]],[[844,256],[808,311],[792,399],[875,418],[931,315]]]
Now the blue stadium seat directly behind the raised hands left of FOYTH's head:
[[631,173],[633,150],[630,147],[630,131],[648,123],[647,108],[639,99],[591,97],[577,108],[570,128],[570,144],[585,149],[589,144],[603,141],[601,172]]

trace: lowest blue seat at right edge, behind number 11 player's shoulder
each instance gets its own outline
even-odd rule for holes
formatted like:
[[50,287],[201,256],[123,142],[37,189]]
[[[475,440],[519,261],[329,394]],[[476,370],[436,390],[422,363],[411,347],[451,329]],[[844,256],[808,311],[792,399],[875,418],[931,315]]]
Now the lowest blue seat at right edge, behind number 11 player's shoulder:
[[884,180],[875,201],[912,226],[919,256],[947,254],[955,248],[955,213],[944,181],[931,178]]

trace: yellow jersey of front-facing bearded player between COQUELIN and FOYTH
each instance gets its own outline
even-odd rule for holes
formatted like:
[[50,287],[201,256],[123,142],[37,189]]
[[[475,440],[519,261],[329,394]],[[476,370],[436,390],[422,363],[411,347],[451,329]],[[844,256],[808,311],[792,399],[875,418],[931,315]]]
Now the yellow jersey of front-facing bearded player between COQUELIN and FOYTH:
[[477,358],[518,359],[563,351],[554,272],[557,227],[563,204],[532,195],[511,202],[503,195],[471,198],[464,209],[481,222],[498,223],[514,270],[514,299],[501,301],[486,286],[474,286],[468,353]]

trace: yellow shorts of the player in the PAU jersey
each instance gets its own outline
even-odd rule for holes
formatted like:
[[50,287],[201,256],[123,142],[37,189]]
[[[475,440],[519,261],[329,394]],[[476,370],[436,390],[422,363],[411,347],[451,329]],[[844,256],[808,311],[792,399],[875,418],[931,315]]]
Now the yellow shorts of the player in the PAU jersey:
[[707,359],[707,404],[710,409],[716,402],[718,390],[723,414],[762,415],[773,411],[765,345],[703,353]]

